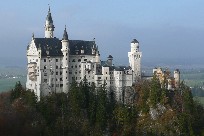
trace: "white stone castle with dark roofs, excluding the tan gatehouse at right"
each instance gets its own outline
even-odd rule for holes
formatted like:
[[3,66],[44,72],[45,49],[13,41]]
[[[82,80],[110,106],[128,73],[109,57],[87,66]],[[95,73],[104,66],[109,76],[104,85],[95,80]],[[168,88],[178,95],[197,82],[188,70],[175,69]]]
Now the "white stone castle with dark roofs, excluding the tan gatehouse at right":
[[114,66],[113,57],[100,60],[95,41],[70,40],[65,27],[62,40],[54,37],[54,24],[50,12],[45,22],[45,37],[35,38],[27,47],[28,74],[26,88],[40,98],[52,92],[67,93],[73,80],[81,82],[86,76],[88,83],[100,87],[106,83],[108,90],[122,99],[122,90],[141,79],[139,42],[134,39],[128,52],[129,66]]

